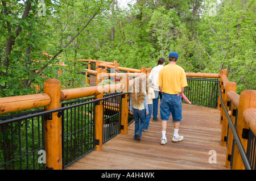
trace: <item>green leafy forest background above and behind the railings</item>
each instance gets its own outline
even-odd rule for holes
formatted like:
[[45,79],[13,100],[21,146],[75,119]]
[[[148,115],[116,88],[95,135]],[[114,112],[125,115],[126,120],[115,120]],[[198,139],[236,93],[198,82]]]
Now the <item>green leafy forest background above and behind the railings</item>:
[[3,0],[0,97],[42,93],[46,78],[84,87],[77,59],[153,68],[172,51],[186,72],[228,69],[238,94],[255,90],[255,23],[254,0]]

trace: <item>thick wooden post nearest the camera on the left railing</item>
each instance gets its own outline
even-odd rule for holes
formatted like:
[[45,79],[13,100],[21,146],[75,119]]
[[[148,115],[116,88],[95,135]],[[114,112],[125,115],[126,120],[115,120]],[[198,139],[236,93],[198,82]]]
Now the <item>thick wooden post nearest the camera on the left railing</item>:
[[[57,79],[46,79],[43,89],[44,93],[51,97],[51,103],[45,106],[44,110],[49,111],[60,108],[60,81]],[[61,117],[58,117],[57,113],[52,113],[52,116],[49,116],[49,119],[45,122],[46,167],[61,170]]]

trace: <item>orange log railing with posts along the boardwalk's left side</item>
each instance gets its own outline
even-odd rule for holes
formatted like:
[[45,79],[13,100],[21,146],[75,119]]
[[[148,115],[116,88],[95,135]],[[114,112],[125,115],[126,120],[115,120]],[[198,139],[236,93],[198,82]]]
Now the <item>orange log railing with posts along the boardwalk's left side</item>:
[[[94,73],[94,71],[89,71],[89,73]],[[105,70],[101,68],[97,68],[97,85],[104,79]],[[133,73],[130,73],[130,76]],[[108,75],[108,74],[107,74]],[[111,76],[111,74],[109,74]],[[109,76],[108,75],[108,76]],[[113,75],[113,74],[112,74]],[[121,76],[121,83],[116,83],[112,85],[99,85],[92,87],[82,87],[76,89],[65,89],[60,90],[60,82],[57,79],[46,79],[44,81],[44,93],[43,94],[35,94],[35,95],[23,95],[23,96],[13,96],[8,98],[0,98],[0,114],[30,110],[32,108],[44,107],[44,110],[48,113],[50,112],[51,116],[47,116],[44,125],[44,150],[46,151],[46,167],[52,169],[62,169],[62,148],[61,148],[61,118],[60,111],[61,102],[65,100],[84,98],[86,96],[95,96],[96,100],[99,100],[98,104],[95,106],[95,140],[99,140],[100,142],[95,145],[95,150],[102,149],[102,120],[103,120],[103,105],[102,101],[104,100],[103,94],[106,92],[112,91],[123,91],[128,92],[129,90],[129,77],[126,77],[126,74],[119,74]],[[144,76],[144,73],[138,74],[135,73],[133,77]],[[95,100],[93,100],[95,102]],[[105,105],[108,108],[108,105]],[[121,134],[127,133],[128,126],[128,94],[123,95],[122,100],[122,115],[121,115],[121,124],[123,125],[123,129],[121,130]],[[56,110],[56,112],[52,112]],[[64,110],[64,109],[63,109]],[[39,113],[37,114],[39,115]],[[16,119],[19,120],[19,119]],[[15,119],[14,119],[15,121]],[[3,139],[6,138],[6,128],[9,127],[4,126],[5,124],[10,123],[9,120],[1,121],[0,127],[3,134]],[[11,123],[13,123],[11,121]],[[13,135],[13,124],[11,124],[11,134]],[[27,127],[26,127],[27,129]],[[1,132],[0,131],[0,132]],[[11,136],[13,137],[13,136]],[[11,138],[13,140],[13,138]],[[13,142],[13,141],[12,141]],[[5,151],[9,145],[6,146],[5,141],[3,141]],[[14,145],[10,145],[14,147]],[[22,149],[22,148],[20,148]],[[6,153],[5,153],[6,154]],[[3,156],[5,157],[5,156]],[[25,156],[26,157],[26,156]],[[14,153],[13,157],[11,157],[11,161],[8,161],[8,164],[14,162]],[[20,155],[21,159],[21,155]],[[0,164],[1,165],[1,164]],[[8,169],[9,166],[5,167]],[[14,168],[14,165],[12,166]]]

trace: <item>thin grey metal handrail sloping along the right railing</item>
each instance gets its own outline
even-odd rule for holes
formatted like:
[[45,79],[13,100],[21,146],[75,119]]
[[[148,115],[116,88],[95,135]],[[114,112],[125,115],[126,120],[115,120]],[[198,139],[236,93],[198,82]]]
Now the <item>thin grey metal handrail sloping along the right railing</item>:
[[247,156],[246,156],[246,153],[245,153],[245,149],[243,148],[241,140],[240,140],[240,138],[238,136],[237,129],[236,129],[236,127],[234,127],[233,122],[232,122],[232,120],[231,120],[231,118],[229,116],[229,113],[226,110],[225,104],[222,101],[220,86],[218,86],[218,92],[219,92],[219,95],[220,95],[221,106],[223,107],[223,110],[224,110],[224,112],[226,114],[226,117],[228,119],[229,127],[230,127],[230,129],[231,129],[231,131],[233,133],[234,140],[236,141],[238,151],[241,154],[243,165],[245,166],[246,170],[251,170],[250,162],[247,159]]

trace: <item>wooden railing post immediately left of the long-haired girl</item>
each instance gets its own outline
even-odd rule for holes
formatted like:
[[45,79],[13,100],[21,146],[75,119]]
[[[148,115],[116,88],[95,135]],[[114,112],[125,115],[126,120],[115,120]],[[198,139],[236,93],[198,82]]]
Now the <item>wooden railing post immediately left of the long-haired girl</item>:
[[[120,83],[125,85],[125,89],[123,92],[129,92],[129,76],[122,76]],[[123,125],[123,129],[121,129],[120,134],[127,134],[128,132],[128,116],[129,116],[129,94],[125,94],[122,98],[122,109],[121,109],[121,125]]]

